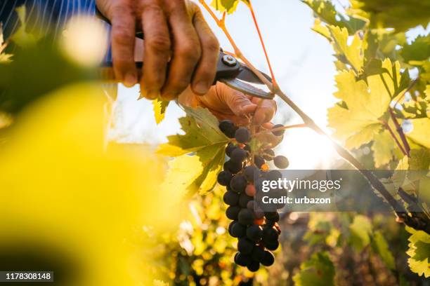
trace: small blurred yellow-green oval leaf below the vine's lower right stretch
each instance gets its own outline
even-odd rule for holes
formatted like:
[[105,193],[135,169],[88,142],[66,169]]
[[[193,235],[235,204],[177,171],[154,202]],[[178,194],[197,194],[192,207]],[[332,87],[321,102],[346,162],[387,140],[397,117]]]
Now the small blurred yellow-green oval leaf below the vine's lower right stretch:
[[372,224],[367,217],[361,214],[356,215],[352,224],[350,224],[349,229],[351,231],[349,241],[358,252],[362,251],[364,247],[369,245],[370,233],[372,233]]

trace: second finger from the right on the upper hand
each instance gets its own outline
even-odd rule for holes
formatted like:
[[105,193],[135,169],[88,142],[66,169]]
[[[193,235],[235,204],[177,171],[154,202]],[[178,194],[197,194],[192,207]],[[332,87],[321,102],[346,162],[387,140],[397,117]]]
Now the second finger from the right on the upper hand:
[[162,98],[172,100],[190,84],[202,49],[184,2],[164,0],[164,5],[169,14],[174,50]]

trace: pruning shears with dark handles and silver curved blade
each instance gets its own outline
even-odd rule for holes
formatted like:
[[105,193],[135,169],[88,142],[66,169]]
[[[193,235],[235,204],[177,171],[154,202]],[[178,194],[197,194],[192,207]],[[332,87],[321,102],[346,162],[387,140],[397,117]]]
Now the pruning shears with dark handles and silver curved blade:
[[[98,18],[110,23],[110,21],[99,11],[96,11],[96,15]],[[143,39],[143,32],[136,32],[136,37]],[[141,69],[142,66],[143,62],[136,62],[136,67],[139,69]],[[103,62],[102,68],[104,70],[107,68],[107,72],[103,71],[103,77],[105,79],[115,79],[115,76],[111,70],[112,62]],[[262,71],[260,72],[266,77],[266,79],[268,79],[268,81],[272,81],[270,76],[263,73]],[[225,83],[230,88],[253,97],[259,97],[265,100],[272,100],[274,97],[273,93],[266,92],[256,86],[253,86],[252,84],[263,85],[264,83],[261,81],[261,79],[259,79],[254,71],[247,67],[246,64],[239,62],[235,57],[233,57],[233,55],[224,53],[222,49],[219,52],[218,64],[216,65],[216,76],[213,84],[215,84],[217,81]]]

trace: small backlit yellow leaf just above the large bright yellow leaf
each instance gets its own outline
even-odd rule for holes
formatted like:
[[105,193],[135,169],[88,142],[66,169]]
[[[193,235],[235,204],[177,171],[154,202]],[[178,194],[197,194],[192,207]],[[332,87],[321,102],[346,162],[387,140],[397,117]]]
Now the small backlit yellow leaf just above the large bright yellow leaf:
[[345,63],[350,64],[358,73],[363,67],[363,53],[361,53],[363,41],[358,35],[354,35],[351,45],[348,45],[348,30],[346,28],[329,25],[328,29],[332,35],[334,50],[338,55],[342,55],[346,60]]

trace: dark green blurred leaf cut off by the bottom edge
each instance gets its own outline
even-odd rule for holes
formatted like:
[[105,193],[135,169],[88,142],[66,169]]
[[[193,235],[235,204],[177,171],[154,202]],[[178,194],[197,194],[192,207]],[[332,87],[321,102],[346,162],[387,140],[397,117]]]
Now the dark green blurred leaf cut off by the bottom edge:
[[300,272],[293,280],[297,286],[330,286],[334,285],[334,274],[334,265],[327,252],[317,252],[300,265]]

